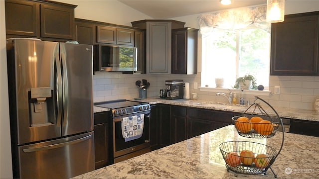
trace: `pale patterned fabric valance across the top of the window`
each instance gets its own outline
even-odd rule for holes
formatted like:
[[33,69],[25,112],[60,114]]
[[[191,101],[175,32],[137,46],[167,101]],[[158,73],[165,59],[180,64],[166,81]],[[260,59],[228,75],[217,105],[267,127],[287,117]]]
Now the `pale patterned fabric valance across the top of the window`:
[[271,23],[266,22],[267,6],[242,7],[214,13],[205,13],[198,17],[201,34],[220,30],[240,30],[260,28],[271,32]]

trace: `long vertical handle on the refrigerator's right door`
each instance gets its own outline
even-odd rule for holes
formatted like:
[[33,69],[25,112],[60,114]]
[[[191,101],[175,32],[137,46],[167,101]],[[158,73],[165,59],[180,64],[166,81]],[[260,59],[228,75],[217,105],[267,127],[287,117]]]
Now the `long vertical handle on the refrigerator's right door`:
[[64,118],[63,118],[63,125],[66,125],[66,121],[67,121],[67,111],[68,111],[68,72],[67,72],[67,67],[66,67],[66,52],[65,52],[65,47],[61,45],[60,43],[60,57],[61,57],[61,65],[63,68],[63,74],[62,74],[62,78],[63,78],[63,110],[64,110]]

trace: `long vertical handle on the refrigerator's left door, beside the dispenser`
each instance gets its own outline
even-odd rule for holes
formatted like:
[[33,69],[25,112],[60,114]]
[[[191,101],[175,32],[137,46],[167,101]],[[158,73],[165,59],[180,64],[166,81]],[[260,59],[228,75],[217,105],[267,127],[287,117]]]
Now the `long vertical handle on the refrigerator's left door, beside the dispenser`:
[[61,71],[61,63],[59,58],[59,53],[55,54],[55,63],[56,63],[56,95],[57,95],[57,126],[60,127],[62,120],[62,71]]

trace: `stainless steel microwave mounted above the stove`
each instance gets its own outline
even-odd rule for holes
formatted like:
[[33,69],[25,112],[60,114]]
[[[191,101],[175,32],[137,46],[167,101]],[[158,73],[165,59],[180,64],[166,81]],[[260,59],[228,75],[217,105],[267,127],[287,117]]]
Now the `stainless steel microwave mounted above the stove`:
[[93,51],[94,64],[99,67],[98,71],[137,71],[137,47],[94,45]]

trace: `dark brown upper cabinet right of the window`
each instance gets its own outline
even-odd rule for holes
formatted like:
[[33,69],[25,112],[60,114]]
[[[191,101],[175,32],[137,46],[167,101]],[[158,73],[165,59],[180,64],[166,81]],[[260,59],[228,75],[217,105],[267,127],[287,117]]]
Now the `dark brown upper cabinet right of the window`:
[[270,75],[319,76],[319,11],[272,24]]

